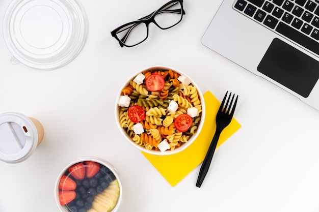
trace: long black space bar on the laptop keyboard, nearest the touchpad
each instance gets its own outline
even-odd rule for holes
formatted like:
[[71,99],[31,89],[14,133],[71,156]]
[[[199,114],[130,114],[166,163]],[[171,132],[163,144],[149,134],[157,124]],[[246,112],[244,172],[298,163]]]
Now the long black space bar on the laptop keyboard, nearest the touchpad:
[[[315,29],[314,29],[315,30]],[[312,40],[308,36],[298,32],[296,29],[292,28],[291,26],[288,26],[287,24],[283,22],[279,22],[276,31],[283,36],[286,36],[287,38],[295,41],[296,43],[299,43],[300,45],[304,46],[305,48],[309,49],[310,51],[314,52],[315,54],[319,55],[319,43],[315,40]],[[313,32],[312,32],[313,34]],[[312,36],[311,34],[311,36]],[[317,34],[319,37],[319,32],[317,31]]]

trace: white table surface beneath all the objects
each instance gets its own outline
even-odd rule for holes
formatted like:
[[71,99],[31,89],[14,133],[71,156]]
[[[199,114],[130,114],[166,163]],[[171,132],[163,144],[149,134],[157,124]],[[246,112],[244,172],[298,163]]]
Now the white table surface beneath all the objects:
[[[0,113],[16,111],[42,123],[45,136],[19,164],[0,162],[1,212],[56,212],[54,185],[62,168],[96,156],[118,170],[119,211],[318,211],[319,111],[214,51],[200,39],[221,0],[184,1],[185,16],[144,43],[121,48],[110,31],[167,1],[80,1],[87,42],[68,65],[41,71],[13,65],[0,27]],[[0,22],[10,0],[0,1]],[[201,188],[199,167],[171,187],[115,125],[115,98],[128,76],[152,65],[177,68],[219,100],[240,95],[242,127],[217,150]],[[208,142],[208,141],[207,141]]]

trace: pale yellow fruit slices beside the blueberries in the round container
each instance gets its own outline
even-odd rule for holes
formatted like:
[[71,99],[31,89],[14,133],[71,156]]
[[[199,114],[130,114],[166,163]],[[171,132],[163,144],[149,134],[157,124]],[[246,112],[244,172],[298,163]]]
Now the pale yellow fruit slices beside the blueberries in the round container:
[[108,212],[115,207],[119,195],[119,182],[117,181],[117,179],[115,179],[110,183],[110,186],[108,188],[106,188],[102,193],[94,197],[94,201],[92,202],[92,208],[97,212]]

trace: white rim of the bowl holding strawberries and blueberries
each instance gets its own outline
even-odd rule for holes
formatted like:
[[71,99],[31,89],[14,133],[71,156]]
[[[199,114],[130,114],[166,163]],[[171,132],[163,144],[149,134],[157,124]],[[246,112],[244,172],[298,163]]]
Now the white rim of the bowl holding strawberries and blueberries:
[[114,176],[116,177],[118,183],[119,183],[119,187],[120,187],[120,195],[118,197],[117,203],[115,205],[115,207],[110,211],[110,212],[116,212],[119,210],[119,208],[121,207],[122,201],[123,201],[123,188],[122,188],[122,181],[120,179],[120,176],[118,174],[118,171],[116,170],[116,168],[108,161],[98,158],[98,157],[91,157],[91,156],[85,156],[85,157],[79,157],[76,158],[72,161],[70,161],[67,165],[64,166],[64,168],[61,170],[61,172],[59,173],[57,179],[56,179],[56,184],[55,184],[55,199],[56,199],[56,203],[57,206],[59,208],[59,210],[61,212],[69,212],[68,208],[65,205],[61,205],[60,204],[60,200],[59,200],[59,184],[60,184],[60,179],[62,177],[62,175],[68,170],[69,167],[71,167],[72,165],[79,163],[79,162],[85,162],[85,161],[93,161],[93,162],[97,162],[99,164],[102,164],[103,166],[109,168],[112,173],[114,174]]

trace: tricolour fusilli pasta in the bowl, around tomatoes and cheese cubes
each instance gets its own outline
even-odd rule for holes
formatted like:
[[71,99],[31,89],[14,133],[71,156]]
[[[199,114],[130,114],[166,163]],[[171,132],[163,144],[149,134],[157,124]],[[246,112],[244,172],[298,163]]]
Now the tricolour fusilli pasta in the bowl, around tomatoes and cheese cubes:
[[[160,75],[164,79],[163,88],[151,92],[145,80],[141,84],[134,80],[129,81],[121,93],[123,96],[128,96],[130,102],[127,107],[121,107],[119,110],[120,126],[126,131],[132,142],[148,150],[158,150],[159,142],[164,139],[168,141],[170,150],[174,150],[188,142],[197,132],[202,114],[202,103],[198,90],[192,83],[187,85],[179,81],[180,74],[173,70],[148,70],[142,74],[145,79],[152,74]],[[171,101],[175,101],[178,105],[175,111],[168,110]],[[139,105],[145,112],[143,120],[138,122],[144,129],[144,132],[140,134],[135,133],[133,127],[137,123],[132,122],[127,114],[128,108],[133,105]],[[197,115],[191,118],[192,124],[187,131],[180,132],[177,130],[179,128],[176,129],[174,120],[179,115],[187,114],[188,108],[191,107],[197,109]]]

